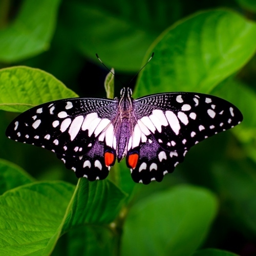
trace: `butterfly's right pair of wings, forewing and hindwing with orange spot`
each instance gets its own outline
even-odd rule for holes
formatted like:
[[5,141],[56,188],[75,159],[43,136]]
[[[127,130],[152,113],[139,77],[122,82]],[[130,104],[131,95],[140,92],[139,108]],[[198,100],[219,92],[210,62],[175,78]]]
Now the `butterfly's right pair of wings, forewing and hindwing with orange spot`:
[[[134,181],[144,184],[161,181],[191,146],[243,120],[230,102],[199,93],[150,95],[134,100],[133,109],[136,124],[126,163]],[[138,160],[132,164],[136,155]]]

